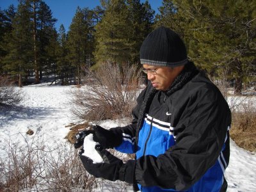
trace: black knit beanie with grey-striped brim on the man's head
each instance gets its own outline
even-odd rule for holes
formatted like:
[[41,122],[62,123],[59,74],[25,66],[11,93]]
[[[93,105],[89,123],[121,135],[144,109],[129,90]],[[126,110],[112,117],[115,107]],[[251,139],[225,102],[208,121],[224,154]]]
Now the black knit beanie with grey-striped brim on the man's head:
[[179,35],[163,26],[155,29],[140,47],[141,64],[177,67],[188,63],[186,47]]

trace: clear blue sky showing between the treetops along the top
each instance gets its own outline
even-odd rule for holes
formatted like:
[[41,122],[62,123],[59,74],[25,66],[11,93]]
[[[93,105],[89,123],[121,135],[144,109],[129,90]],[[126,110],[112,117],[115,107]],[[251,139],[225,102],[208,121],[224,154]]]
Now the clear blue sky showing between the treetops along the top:
[[[76,13],[77,6],[80,8],[88,7],[90,9],[95,8],[95,6],[100,5],[99,0],[44,0],[45,3],[51,8],[52,15],[54,18],[58,19],[55,24],[55,27],[58,31],[60,25],[63,24],[66,31],[68,31],[68,27],[72,22],[72,18]],[[141,2],[145,2],[145,0],[141,0]],[[157,8],[162,5],[161,0],[149,0],[151,8],[158,12]],[[10,6],[10,4],[14,4],[17,7],[17,0],[0,0],[1,10],[4,10]]]

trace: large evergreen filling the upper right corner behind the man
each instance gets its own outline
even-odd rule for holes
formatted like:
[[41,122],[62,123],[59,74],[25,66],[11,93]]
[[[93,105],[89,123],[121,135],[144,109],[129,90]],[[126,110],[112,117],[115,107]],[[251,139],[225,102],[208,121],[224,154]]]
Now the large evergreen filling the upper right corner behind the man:
[[244,72],[255,58],[255,6],[255,0],[164,0],[157,24],[180,33],[189,57],[211,76],[228,70],[241,93]]

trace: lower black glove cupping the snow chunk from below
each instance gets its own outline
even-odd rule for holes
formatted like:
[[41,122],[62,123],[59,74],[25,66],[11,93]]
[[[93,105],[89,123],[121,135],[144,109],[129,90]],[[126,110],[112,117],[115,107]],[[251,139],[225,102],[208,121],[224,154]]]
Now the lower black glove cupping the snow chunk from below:
[[121,159],[102,149],[100,145],[96,145],[95,149],[99,152],[104,163],[93,163],[92,159],[79,153],[79,157],[88,173],[95,177],[102,177],[112,181],[122,180],[134,183],[135,160],[123,163]]

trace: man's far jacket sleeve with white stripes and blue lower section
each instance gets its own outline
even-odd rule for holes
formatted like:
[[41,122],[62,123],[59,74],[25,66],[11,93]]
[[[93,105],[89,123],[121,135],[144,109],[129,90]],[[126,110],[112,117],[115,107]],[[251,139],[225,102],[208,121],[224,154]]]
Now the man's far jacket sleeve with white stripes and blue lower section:
[[115,147],[116,150],[119,152],[127,153],[127,154],[134,154],[134,141],[136,138],[136,129],[138,123],[138,116],[140,112],[140,106],[145,97],[145,93],[147,88],[143,90],[137,98],[137,105],[134,109],[132,109],[132,123],[126,125],[125,127],[115,127],[111,128],[110,130],[115,132],[116,135],[122,135],[122,143],[118,147]]

